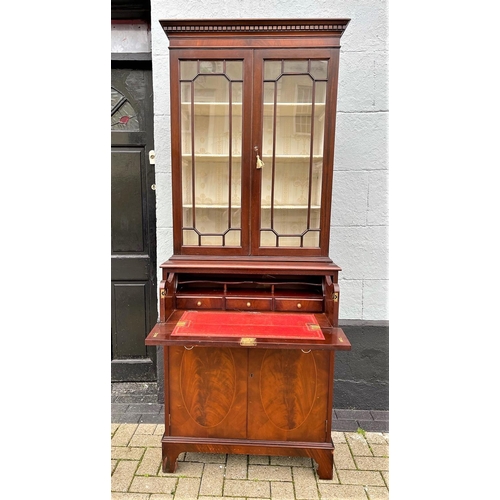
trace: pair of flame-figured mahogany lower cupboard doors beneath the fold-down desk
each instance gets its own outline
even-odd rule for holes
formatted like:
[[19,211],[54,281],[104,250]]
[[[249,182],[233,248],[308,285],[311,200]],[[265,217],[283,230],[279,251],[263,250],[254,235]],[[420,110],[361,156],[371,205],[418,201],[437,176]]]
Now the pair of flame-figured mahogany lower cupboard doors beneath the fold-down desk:
[[171,436],[330,439],[333,356],[328,351],[177,346],[168,351]]

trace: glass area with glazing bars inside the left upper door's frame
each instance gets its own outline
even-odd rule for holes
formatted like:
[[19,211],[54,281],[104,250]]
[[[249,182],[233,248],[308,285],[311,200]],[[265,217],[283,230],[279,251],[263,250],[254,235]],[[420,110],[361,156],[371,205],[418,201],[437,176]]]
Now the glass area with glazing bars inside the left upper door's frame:
[[184,245],[241,245],[242,83],[218,74],[238,66],[200,61],[200,73],[181,83]]

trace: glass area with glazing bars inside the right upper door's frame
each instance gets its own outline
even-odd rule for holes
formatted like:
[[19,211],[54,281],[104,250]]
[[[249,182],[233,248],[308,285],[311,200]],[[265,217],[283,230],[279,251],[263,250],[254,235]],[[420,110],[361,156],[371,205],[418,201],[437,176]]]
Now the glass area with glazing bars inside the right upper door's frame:
[[[264,78],[280,64],[265,61]],[[319,247],[326,82],[315,78],[326,71],[326,61],[283,61],[264,83],[261,246]]]

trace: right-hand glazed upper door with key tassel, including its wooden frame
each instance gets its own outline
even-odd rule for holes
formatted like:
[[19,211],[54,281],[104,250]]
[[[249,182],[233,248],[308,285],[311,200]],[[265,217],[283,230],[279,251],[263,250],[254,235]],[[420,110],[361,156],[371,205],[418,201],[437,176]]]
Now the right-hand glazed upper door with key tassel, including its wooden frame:
[[252,253],[326,255],[338,67],[335,50],[255,53]]

